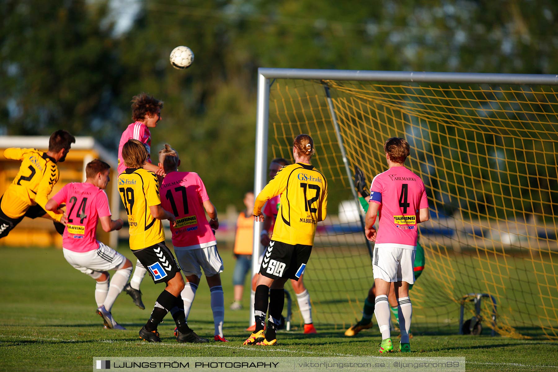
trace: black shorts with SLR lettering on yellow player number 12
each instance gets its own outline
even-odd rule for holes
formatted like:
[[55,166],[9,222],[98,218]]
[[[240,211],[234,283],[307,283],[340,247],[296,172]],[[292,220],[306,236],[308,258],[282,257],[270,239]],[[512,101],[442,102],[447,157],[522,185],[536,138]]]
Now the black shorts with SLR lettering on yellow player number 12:
[[298,281],[312,253],[311,245],[286,244],[272,240],[263,254],[259,273],[272,279],[290,278]]

